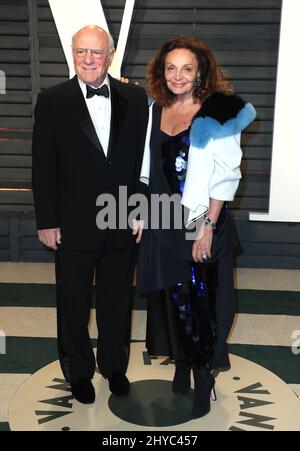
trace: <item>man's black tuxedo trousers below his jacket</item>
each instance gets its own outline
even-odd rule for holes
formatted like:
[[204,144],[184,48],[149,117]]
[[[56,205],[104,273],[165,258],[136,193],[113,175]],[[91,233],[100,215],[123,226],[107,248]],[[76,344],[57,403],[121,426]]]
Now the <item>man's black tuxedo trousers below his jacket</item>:
[[95,357],[88,333],[95,275],[97,365],[107,377],[126,372],[130,341],[130,296],[136,246],[95,252],[56,252],[58,354],[65,379],[92,379]]

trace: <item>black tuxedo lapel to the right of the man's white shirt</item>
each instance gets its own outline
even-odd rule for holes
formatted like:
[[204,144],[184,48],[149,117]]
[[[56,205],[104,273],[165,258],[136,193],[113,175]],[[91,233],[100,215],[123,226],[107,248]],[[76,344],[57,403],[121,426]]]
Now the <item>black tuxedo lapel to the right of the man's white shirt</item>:
[[118,144],[127,110],[127,100],[119,93],[114,79],[109,77],[109,81],[111,92],[111,122],[107,158],[111,157],[112,152]]

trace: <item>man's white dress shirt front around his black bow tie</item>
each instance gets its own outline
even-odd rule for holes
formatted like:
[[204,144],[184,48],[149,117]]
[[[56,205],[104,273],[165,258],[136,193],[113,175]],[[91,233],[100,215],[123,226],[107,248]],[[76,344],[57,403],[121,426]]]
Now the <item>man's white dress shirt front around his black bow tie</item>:
[[[77,77],[78,78],[78,77]],[[108,76],[105,77],[103,85],[107,85],[109,90],[109,98],[104,96],[94,95],[90,99],[86,98],[86,83],[78,78],[79,86],[89,110],[92,122],[94,124],[98,139],[101,143],[105,156],[107,156],[109,134],[110,134],[110,120],[111,120],[111,93]],[[101,88],[99,86],[99,88]],[[92,86],[93,87],[93,86]]]

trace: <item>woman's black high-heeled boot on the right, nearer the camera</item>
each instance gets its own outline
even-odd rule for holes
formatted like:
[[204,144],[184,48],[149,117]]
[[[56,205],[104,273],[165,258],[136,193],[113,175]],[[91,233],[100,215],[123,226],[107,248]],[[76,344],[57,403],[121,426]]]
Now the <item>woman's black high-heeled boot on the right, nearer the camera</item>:
[[203,417],[210,411],[210,396],[215,385],[215,378],[205,366],[193,364],[194,403],[192,417]]

